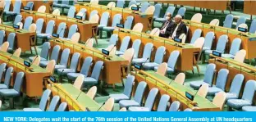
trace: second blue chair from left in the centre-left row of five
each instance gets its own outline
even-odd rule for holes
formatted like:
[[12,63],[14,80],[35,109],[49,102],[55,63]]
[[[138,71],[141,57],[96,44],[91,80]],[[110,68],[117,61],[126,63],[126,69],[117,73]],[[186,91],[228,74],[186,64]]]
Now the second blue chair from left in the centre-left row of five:
[[[53,52],[52,52],[51,57],[50,57],[50,60],[54,60],[55,62],[57,62],[60,50],[61,50],[61,47],[59,45],[54,46],[53,47]],[[40,66],[45,67],[45,66],[48,65],[48,62],[49,61],[47,61],[47,60],[41,60],[40,61]]]

